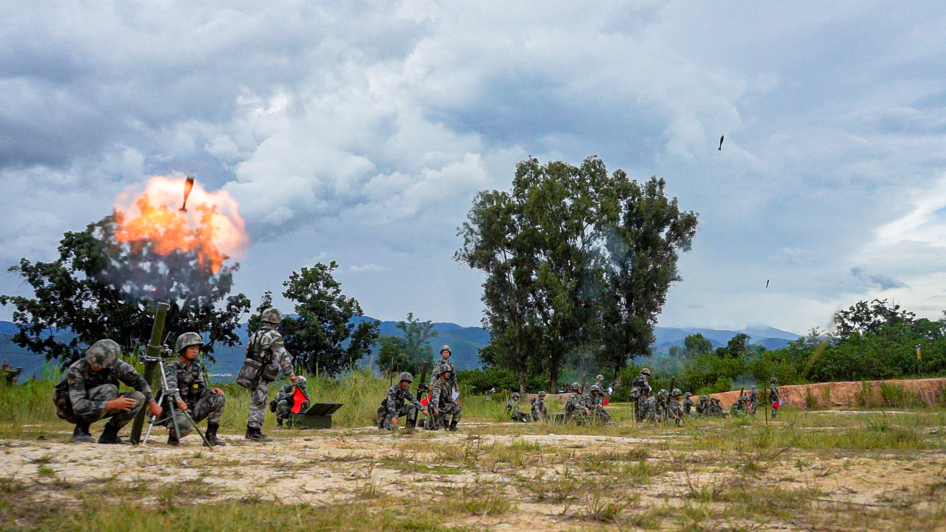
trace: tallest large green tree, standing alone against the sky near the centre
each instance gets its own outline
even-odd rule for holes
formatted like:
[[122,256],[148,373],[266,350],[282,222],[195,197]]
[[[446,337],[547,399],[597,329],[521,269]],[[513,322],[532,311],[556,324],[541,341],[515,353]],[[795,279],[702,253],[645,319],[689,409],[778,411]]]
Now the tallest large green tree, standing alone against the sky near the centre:
[[483,270],[484,325],[503,368],[548,370],[550,388],[569,356],[621,369],[649,352],[677,252],[696,215],[680,212],[663,180],[643,184],[604,163],[529,159],[509,192],[482,192],[461,229],[457,260]]

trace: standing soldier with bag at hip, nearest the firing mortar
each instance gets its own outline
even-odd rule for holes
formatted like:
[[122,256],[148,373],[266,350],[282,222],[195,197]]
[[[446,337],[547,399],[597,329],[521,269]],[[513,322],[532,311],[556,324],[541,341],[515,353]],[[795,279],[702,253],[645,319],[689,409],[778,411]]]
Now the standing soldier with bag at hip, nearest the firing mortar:
[[237,384],[250,389],[250,415],[246,421],[246,435],[243,438],[272,441],[272,438],[262,433],[270,383],[276,380],[280,367],[283,373],[289,375],[289,381],[294,383],[298,377],[292,369],[292,356],[286,351],[283,335],[276,331],[279,322],[283,320],[283,313],[270,307],[260,313],[259,319],[263,326],[250,336],[247,342],[247,360],[243,363],[243,369],[240,369]]

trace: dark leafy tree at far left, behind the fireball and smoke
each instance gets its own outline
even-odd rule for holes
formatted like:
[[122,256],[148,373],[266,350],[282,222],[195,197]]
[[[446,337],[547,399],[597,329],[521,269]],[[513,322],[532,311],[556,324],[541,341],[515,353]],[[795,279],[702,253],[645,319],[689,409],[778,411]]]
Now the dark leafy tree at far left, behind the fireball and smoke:
[[201,333],[203,352],[211,356],[218,342],[236,345],[239,319],[250,308],[243,294],[227,296],[238,265],[208,263],[205,249],[159,252],[149,239],[120,241],[121,221],[116,213],[83,232],[64,233],[59,258],[51,263],[24,258],[9,268],[34,292],[33,298],[0,296],[0,303],[16,308],[19,331],[12,340],[63,365],[103,338],[131,351],[149,341],[154,304],[166,301],[171,342],[175,335]]

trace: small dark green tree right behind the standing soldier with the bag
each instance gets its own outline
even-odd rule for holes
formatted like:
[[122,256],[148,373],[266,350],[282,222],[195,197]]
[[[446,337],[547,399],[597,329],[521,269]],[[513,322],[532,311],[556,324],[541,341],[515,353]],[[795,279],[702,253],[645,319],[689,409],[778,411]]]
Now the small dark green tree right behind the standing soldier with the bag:
[[[337,373],[355,364],[377,344],[378,321],[362,321],[361,305],[342,294],[332,272],[335,261],[293,271],[283,282],[283,296],[294,301],[297,317],[284,317],[279,326],[286,349],[308,371]],[[258,319],[258,318],[257,318]]]

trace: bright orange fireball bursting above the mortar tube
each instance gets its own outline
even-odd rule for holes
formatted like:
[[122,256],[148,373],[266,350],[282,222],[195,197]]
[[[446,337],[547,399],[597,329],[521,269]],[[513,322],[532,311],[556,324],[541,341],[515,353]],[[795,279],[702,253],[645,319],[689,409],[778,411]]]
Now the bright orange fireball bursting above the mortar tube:
[[154,176],[144,192],[115,198],[115,238],[132,247],[149,246],[158,255],[194,253],[200,266],[217,273],[249,243],[238,204],[226,191],[208,192],[194,183],[182,211],[184,183],[184,178]]

